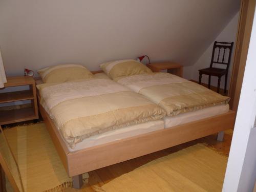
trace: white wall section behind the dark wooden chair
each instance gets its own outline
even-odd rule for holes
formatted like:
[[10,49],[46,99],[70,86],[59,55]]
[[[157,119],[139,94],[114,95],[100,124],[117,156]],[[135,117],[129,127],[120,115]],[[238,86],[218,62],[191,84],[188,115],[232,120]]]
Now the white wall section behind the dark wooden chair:
[[[238,29],[238,19],[239,19],[239,12],[230,20],[227,26],[223,29],[223,31],[215,38],[214,41],[227,41],[227,42],[236,42],[237,36],[237,29]],[[206,51],[201,55],[197,62],[194,63],[193,67],[185,67],[184,68],[184,77],[187,79],[199,79],[199,69],[208,68],[210,66],[211,54],[212,54],[212,47],[214,46],[214,41],[210,44],[210,46],[206,49]],[[236,44],[233,46],[233,52]],[[232,73],[232,64],[233,64],[233,57],[230,62],[229,66],[229,73],[228,73],[228,81],[227,81],[227,88],[229,87],[229,82]],[[222,67],[222,66],[216,66]],[[208,83],[208,75],[202,76],[202,82]],[[224,88],[225,76],[222,76],[221,79],[221,88]],[[218,77],[211,77],[211,85],[216,86],[218,85]]]

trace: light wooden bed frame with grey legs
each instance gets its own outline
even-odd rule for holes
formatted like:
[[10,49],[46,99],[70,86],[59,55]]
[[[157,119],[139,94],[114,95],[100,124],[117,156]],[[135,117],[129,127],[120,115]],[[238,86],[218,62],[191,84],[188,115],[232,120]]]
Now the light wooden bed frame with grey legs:
[[[92,73],[101,72],[94,71]],[[40,99],[39,93],[37,96]],[[222,140],[223,131],[232,129],[235,120],[235,112],[229,110],[222,115],[69,152],[57,127],[41,104],[39,104],[39,110],[69,177],[73,177],[74,188],[82,186],[83,173],[98,168],[154,153],[218,132],[218,140]]]

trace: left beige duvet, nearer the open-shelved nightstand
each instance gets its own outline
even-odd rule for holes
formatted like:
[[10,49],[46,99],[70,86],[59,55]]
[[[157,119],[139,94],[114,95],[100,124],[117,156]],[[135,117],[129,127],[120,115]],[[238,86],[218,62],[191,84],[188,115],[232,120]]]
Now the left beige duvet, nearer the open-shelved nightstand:
[[37,88],[41,105],[72,148],[92,135],[166,114],[152,101],[109,79],[43,83]]

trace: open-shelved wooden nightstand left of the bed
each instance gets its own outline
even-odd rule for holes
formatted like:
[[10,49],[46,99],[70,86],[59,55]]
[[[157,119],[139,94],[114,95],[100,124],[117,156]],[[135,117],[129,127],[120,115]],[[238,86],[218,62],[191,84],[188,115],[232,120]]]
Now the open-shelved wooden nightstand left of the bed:
[[14,110],[1,110],[0,108],[0,125],[38,119],[35,80],[32,77],[7,77],[7,83],[4,86],[5,88],[29,86],[30,89],[0,93],[0,103],[30,100],[31,106],[29,108]]

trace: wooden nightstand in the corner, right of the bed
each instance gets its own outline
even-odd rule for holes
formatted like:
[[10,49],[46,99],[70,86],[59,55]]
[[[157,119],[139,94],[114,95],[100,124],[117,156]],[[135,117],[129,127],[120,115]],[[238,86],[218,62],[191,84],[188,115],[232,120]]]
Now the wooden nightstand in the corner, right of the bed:
[[183,66],[175,62],[155,62],[146,65],[153,72],[160,72],[161,70],[167,69],[168,73],[174,75],[183,76]]

